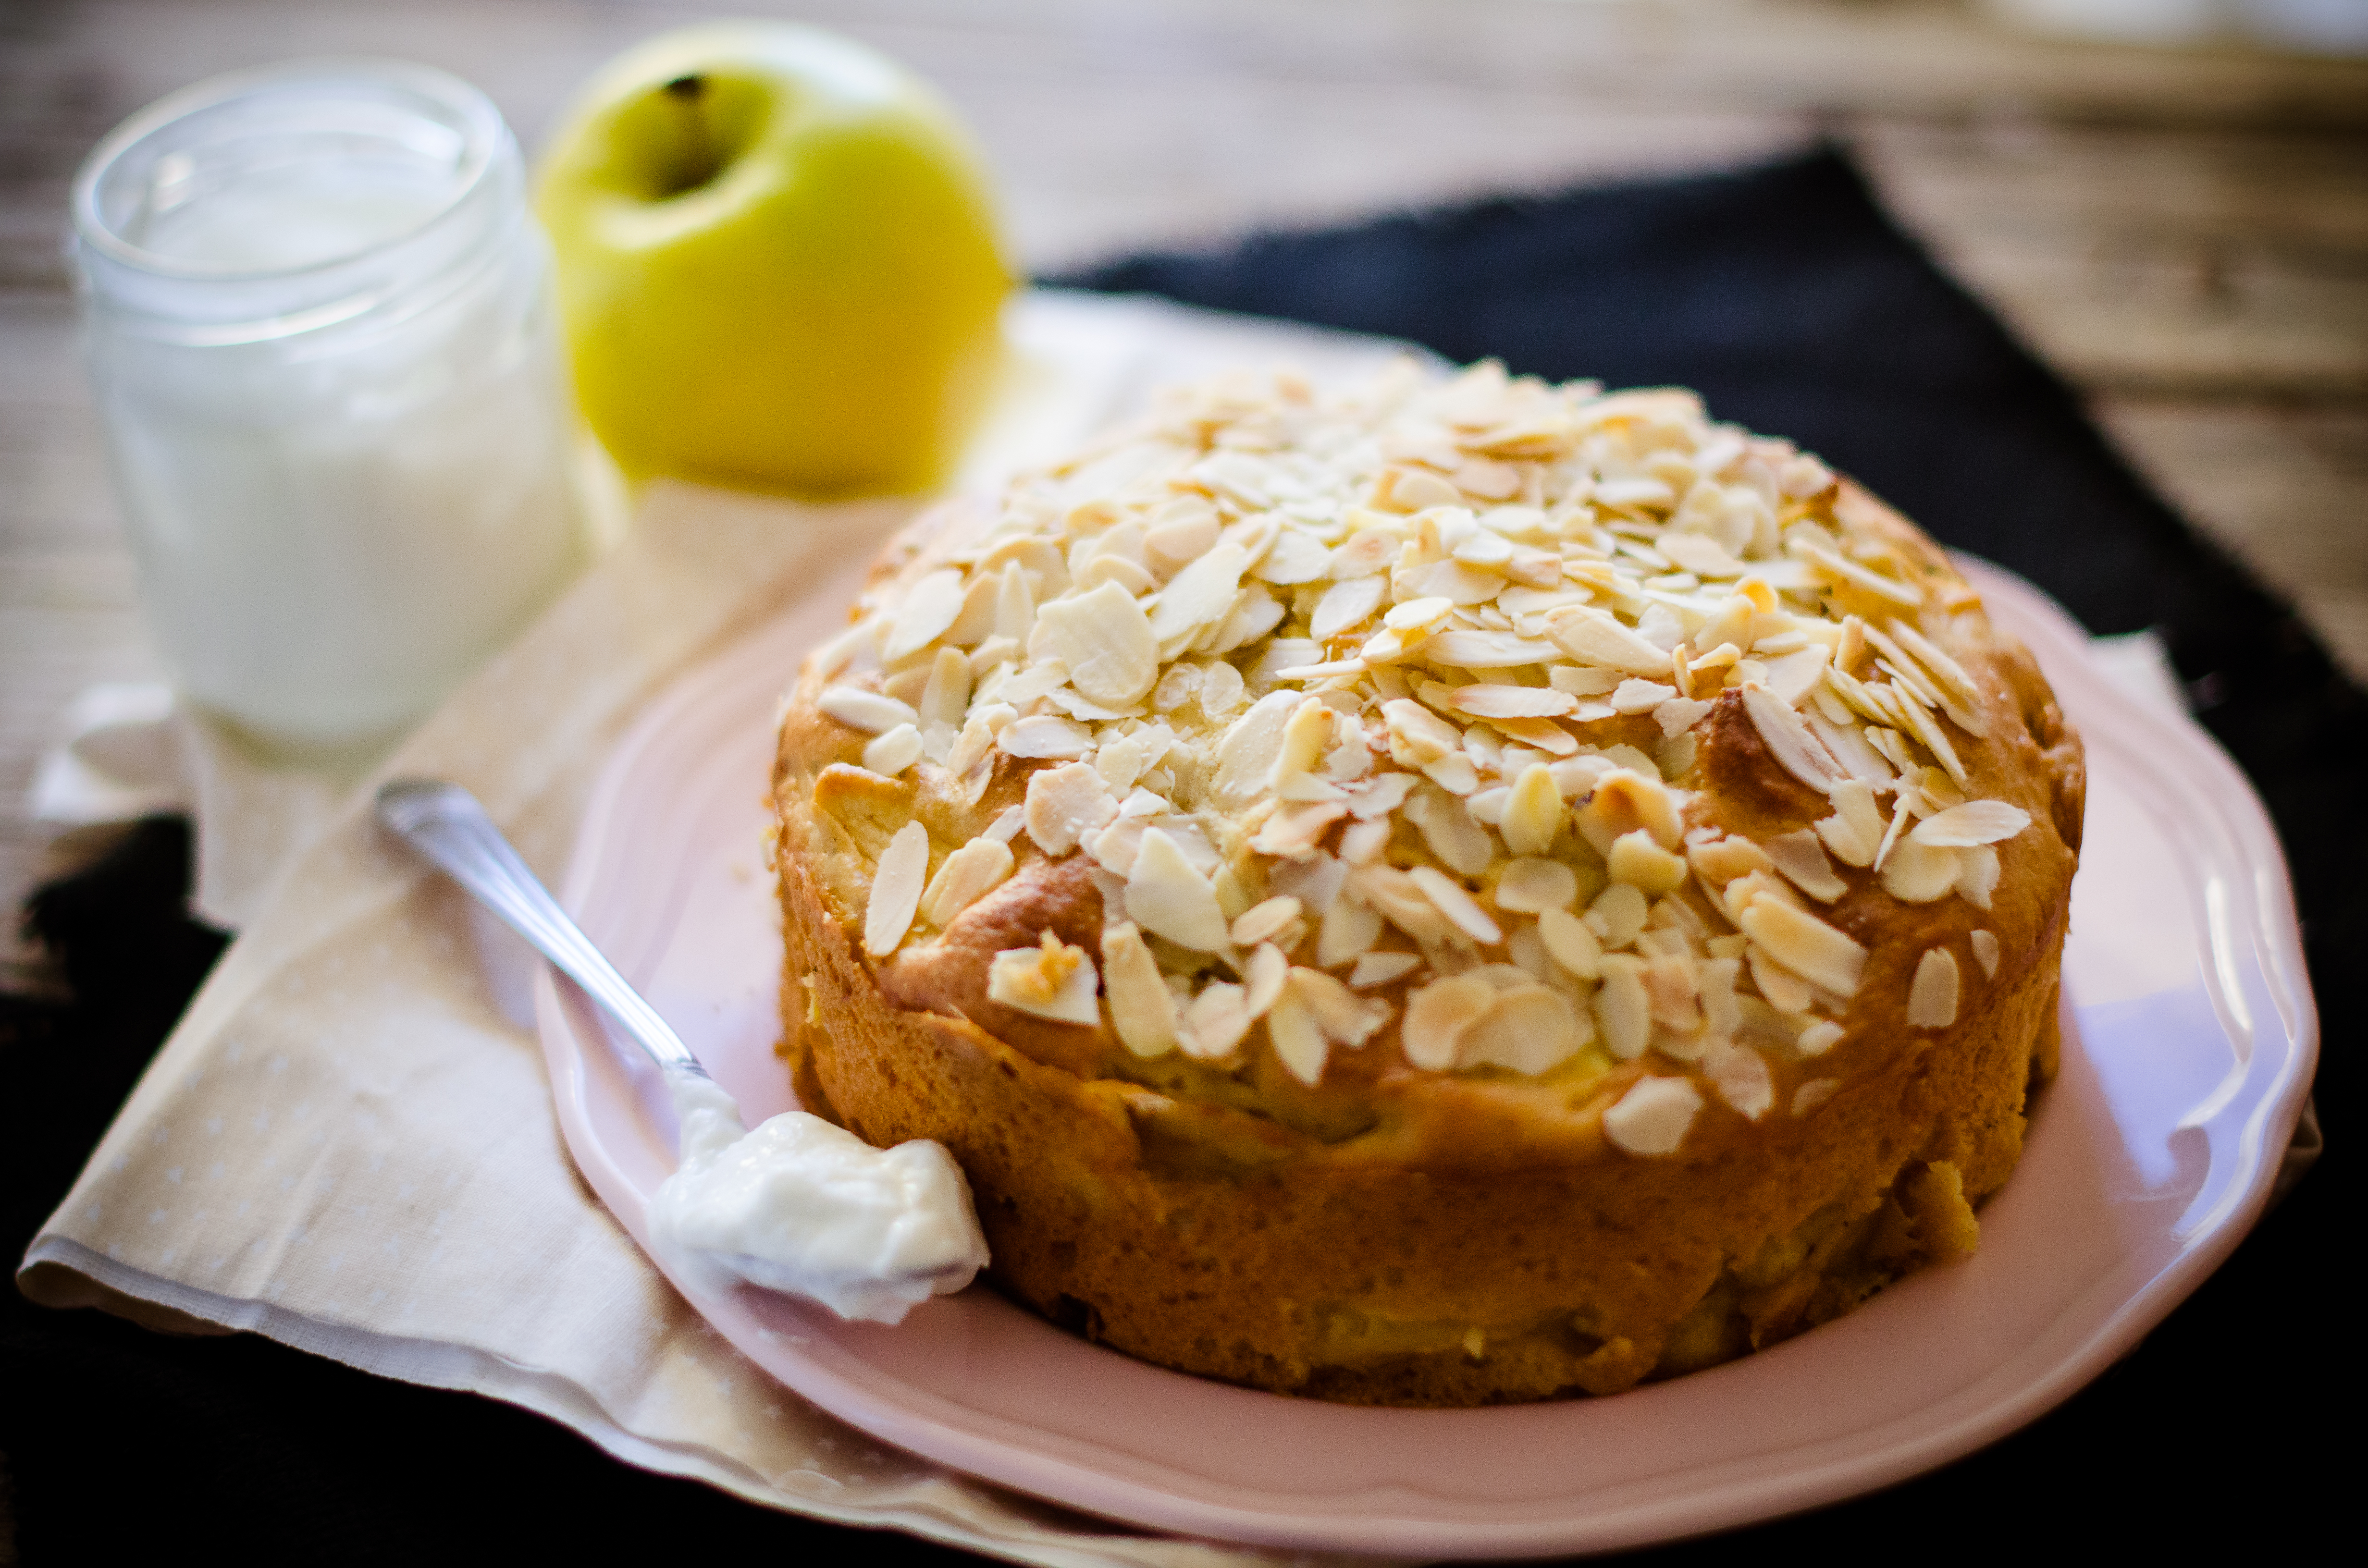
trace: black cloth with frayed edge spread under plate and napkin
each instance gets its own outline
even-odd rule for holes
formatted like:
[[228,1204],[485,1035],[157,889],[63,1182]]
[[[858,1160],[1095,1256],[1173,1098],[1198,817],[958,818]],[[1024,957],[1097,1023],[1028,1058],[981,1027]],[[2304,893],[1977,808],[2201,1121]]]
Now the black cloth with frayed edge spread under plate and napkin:
[[[2129,1360],[2025,1431],[1875,1497],[1643,1556],[2200,1551],[2238,1530],[2257,1544],[2302,1537],[2309,1516],[2332,1511],[2330,1454],[2349,1445],[2316,1442],[2314,1414],[2354,1360],[2337,1291],[2354,1220],[2337,1182],[2344,1047],[2363,1009],[2340,976],[2368,950],[2368,836],[2342,808],[2363,798],[2368,703],[2283,604],[2131,476],[2072,393],[1842,159],[1267,234],[1058,282],[1385,332],[1558,379],[1695,386],[1714,415],[1802,441],[1942,540],[2036,580],[2091,630],[2160,630],[2290,846],[2335,1168]],[[185,827],[152,822],[31,910],[73,1000],[0,997],[12,1258],[220,945],[182,912],[185,862]],[[251,1563],[623,1561],[694,1542],[815,1561],[959,1556],[646,1476],[488,1400],[249,1336],[180,1341],[43,1312],[14,1293],[0,1293],[0,1454],[26,1563],[170,1561],[215,1544]]]

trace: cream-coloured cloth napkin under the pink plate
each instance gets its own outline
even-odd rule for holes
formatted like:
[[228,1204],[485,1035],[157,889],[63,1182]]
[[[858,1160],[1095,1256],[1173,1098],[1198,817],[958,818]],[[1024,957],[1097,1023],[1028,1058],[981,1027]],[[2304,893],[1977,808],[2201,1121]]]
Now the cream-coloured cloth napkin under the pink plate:
[[[1018,303],[1011,329],[1018,386],[969,483],[1058,450],[1156,381],[1234,362],[1345,374],[1392,353],[1153,301],[1044,294]],[[336,798],[268,770],[204,775],[206,902],[230,905],[239,940],[36,1236],[26,1296],[159,1329],[268,1334],[523,1405],[630,1464],[762,1504],[1018,1561],[1265,1561],[1111,1532],[978,1485],[864,1438],[741,1360],[568,1163],[516,940],[369,820],[377,777],[457,779],[556,886],[592,779],[635,713],[817,583],[843,583],[905,512],[658,488],[625,542],[362,789]],[[291,798],[315,805],[298,812]]]

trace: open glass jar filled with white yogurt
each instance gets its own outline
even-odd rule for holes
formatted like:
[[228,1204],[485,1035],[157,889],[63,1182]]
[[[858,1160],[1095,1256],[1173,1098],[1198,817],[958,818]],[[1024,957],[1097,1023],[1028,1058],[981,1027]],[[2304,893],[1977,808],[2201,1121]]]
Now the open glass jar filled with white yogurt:
[[549,256],[476,88],[187,88],[83,163],[73,258],[149,625],[268,756],[384,748],[580,566]]

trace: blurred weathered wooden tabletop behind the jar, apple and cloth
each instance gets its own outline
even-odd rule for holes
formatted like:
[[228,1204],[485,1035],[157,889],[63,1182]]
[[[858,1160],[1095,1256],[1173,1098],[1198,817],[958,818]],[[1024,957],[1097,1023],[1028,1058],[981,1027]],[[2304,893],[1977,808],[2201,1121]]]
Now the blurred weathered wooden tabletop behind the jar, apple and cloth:
[[[1030,270],[1255,225],[1700,168],[1828,135],[2190,519],[2368,675],[2368,62],[2020,36],[1951,0],[736,0],[978,128]],[[154,673],[59,242],[90,144],[201,76],[424,59],[535,144],[654,0],[0,5],[0,905],[33,763]],[[12,924],[12,921],[9,921]],[[0,983],[33,978],[9,928]]]

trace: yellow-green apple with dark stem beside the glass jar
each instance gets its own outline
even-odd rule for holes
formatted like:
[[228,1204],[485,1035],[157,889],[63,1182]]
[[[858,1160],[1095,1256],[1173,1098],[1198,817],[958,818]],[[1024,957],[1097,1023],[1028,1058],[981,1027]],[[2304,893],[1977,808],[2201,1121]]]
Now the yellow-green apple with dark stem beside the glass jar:
[[921,490],[985,403],[1011,289],[985,173],[874,50],[651,38],[583,88],[535,206],[585,419],[632,476]]

